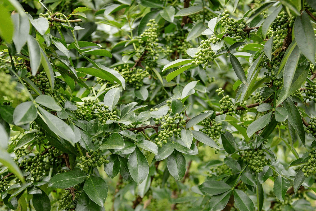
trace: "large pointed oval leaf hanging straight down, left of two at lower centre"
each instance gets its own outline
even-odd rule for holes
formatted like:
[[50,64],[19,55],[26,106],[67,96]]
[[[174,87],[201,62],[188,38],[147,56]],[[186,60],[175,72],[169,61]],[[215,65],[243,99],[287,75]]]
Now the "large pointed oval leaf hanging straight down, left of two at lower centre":
[[141,184],[148,176],[148,161],[138,147],[128,158],[127,167],[137,185]]

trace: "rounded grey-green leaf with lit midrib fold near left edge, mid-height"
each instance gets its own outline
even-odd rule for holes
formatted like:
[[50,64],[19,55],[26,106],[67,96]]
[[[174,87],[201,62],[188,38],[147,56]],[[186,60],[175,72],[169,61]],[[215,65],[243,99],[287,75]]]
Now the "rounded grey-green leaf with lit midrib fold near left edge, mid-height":
[[36,108],[31,101],[23,102],[19,104],[13,113],[13,121],[15,125],[24,125],[37,117]]

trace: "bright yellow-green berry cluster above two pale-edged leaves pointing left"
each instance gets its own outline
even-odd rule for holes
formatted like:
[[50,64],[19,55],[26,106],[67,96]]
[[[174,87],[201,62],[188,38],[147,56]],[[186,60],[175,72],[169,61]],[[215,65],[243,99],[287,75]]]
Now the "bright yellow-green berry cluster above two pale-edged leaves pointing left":
[[218,41],[220,41],[220,38],[216,38],[214,35],[212,35],[209,39],[201,40],[201,44],[199,46],[200,49],[195,53],[195,56],[193,57],[194,61],[192,61],[192,64],[194,64],[195,66],[204,64],[204,70],[206,70],[206,67],[211,68],[212,66],[209,63],[210,61],[214,61],[216,56],[215,52],[211,49],[209,44],[215,44]]

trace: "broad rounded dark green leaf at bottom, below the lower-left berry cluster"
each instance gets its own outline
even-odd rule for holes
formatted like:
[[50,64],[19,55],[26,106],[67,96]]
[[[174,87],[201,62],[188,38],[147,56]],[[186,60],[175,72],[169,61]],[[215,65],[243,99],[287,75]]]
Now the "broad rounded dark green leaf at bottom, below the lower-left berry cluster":
[[100,177],[89,177],[84,182],[83,190],[92,201],[104,207],[107,197],[107,185],[104,179]]

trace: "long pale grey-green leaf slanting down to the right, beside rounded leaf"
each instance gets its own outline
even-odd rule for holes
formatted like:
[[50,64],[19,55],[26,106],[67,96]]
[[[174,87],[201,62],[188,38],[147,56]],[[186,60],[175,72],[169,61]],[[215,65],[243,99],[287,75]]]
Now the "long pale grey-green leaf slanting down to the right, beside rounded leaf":
[[57,116],[47,112],[45,109],[38,106],[40,110],[40,114],[42,114],[41,118],[52,130],[52,132],[56,133],[61,138],[64,138],[67,141],[70,141],[72,144],[76,143],[76,137],[73,130],[67,125],[63,120],[59,119]]

